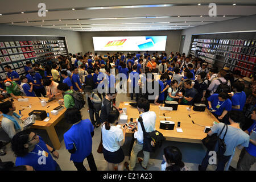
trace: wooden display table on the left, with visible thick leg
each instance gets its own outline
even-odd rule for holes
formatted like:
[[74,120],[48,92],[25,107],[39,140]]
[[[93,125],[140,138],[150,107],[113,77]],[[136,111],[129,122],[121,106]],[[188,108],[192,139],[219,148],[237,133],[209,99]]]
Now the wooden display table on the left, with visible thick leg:
[[[17,96],[18,98],[22,98],[21,96]],[[45,107],[41,105],[41,101],[38,97],[24,97],[28,98],[28,102],[19,102],[18,100],[14,99],[14,105],[16,107],[15,113],[19,114],[19,110],[22,110],[22,118],[28,117],[28,113],[30,113],[33,110],[45,110],[47,113],[49,113],[49,118],[51,118],[48,122],[44,121],[35,121],[35,124],[31,126],[32,129],[41,129],[46,130],[47,134],[53,144],[53,147],[56,148],[56,150],[60,149],[60,140],[56,134],[56,130],[54,126],[59,123],[59,121],[64,117],[65,113],[65,107],[63,110],[59,111],[59,114],[53,115],[51,114],[51,111],[59,106],[58,100],[51,101],[47,103]],[[40,97],[43,100],[48,100],[49,98],[46,97]],[[9,100],[9,98],[6,99],[6,101]],[[31,105],[31,108],[29,108],[29,105]],[[23,110],[24,109],[24,110]],[[2,120],[2,119],[1,119]]]

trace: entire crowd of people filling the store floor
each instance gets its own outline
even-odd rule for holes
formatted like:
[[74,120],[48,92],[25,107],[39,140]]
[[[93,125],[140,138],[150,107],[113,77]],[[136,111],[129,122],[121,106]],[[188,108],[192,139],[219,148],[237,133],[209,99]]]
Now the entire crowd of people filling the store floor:
[[[117,82],[120,89],[127,83],[125,79],[118,77],[117,73],[123,73],[127,80],[131,78],[133,89],[130,97],[134,100],[135,96],[147,132],[155,130],[156,121],[156,114],[150,111],[150,104],[160,105],[165,101],[177,101],[181,105],[205,104],[220,121],[212,127],[208,135],[220,134],[222,127],[228,125],[225,139],[228,149],[218,160],[217,170],[224,169],[237,146],[245,147],[237,164],[238,170],[249,170],[255,163],[256,141],[249,137],[256,132],[255,76],[243,77],[237,70],[230,72],[227,67],[210,67],[204,60],[192,55],[186,56],[185,53],[181,55],[179,52],[171,52],[167,57],[166,52],[157,51],[152,55],[148,51],[142,55],[141,52],[127,55],[122,52],[114,55],[107,53],[106,57],[97,53],[93,55],[92,52],[87,52],[84,56],[69,53],[68,57],[60,56],[57,63],[32,65],[28,61],[25,67],[26,76],[19,77],[9,65],[6,65],[5,70],[6,80],[0,80],[2,100],[6,97],[17,99],[17,96],[63,98],[62,102],[67,109],[65,119],[72,124],[71,129],[64,134],[64,142],[77,170],[86,170],[82,164],[85,158],[90,169],[97,170],[92,154],[92,137],[94,128],[100,126],[103,154],[109,169],[114,169],[117,164],[118,170],[123,170],[124,167],[133,170],[137,154],[143,150],[143,131],[141,123],[138,122],[138,128],[130,128],[136,139],[130,162],[124,161],[121,146],[125,142],[127,127],[115,125],[119,114],[122,113],[122,109],[115,106],[115,97]],[[101,76],[101,73],[104,73],[104,76]],[[134,75],[141,75],[141,80],[135,80]],[[107,82],[107,86],[102,84],[103,82]],[[142,85],[146,89],[145,92]],[[153,93],[149,92],[148,85],[152,85]],[[100,93],[99,89],[104,86],[108,92]],[[139,92],[135,92],[136,90]],[[81,119],[81,108],[74,98],[75,94],[85,96],[90,119]],[[55,148],[49,147],[34,131],[23,126],[22,118],[14,112],[13,102],[1,103],[0,111],[3,113],[2,128],[9,135],[17,157],[16,166],[25,166],[24,169],[31,166],[35,170],[60,170],[53,160],[59,158]],[[42,156],[49,156],[46,157],[47,167],[38,165],[38,151],[42,152]],[[209,151],[199,166],[200,170],[207,169],[208,153]],[[1,154],[4,155],[5,151],[1,150]],[[150,152],[143,151],[143,154],[143,160],[139,158],[138,161],[143,169],[147,169]],[[164,148],[163,159],[163,170],[188,170],[177,147]]]

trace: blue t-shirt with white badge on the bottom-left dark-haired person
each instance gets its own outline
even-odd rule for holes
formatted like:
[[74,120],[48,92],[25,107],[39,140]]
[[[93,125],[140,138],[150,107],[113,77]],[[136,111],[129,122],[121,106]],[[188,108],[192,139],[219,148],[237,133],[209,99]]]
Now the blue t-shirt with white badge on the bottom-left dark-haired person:
[[[26,156],[17,157],[15,166],[32,166],[35,171],[55,171],[57,163],[55,160],[52,159],[51,153],[48,151],[46,147],[46,143],[44,143],[43,139],[39,137],[40,141],[36,144],[34,150],[29,152]],[[46,151],[48,153],[47,158],[44,158],[42,154],[43,152],[39,151]],[[39,153],[39,154],[38,154]],[[40,158],[40,159],[39,159]],[[46,159],[44,164],[43,159]],[[39,164],[39,162],[41,164]]]

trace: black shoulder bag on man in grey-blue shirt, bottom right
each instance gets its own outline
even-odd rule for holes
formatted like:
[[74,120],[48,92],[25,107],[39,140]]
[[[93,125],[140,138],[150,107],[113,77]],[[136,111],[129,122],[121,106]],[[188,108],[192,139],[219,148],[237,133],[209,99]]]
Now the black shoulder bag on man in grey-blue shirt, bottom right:
[[[224,130],[225,127],[226,127],[226,132],[224,134],[224,137],[220,139],[220,135],[222,134],[222,131]],[[222,156],[226,151],[226,144],[224,139],[226,137],[227,132],[228,132],[228,125],[224,125],[219,135],[217,135],[217,133],[214,133],[211,136],[207,135],[207,137],[202,139],[202,142],[209,151],[216,151],[217,156]]]

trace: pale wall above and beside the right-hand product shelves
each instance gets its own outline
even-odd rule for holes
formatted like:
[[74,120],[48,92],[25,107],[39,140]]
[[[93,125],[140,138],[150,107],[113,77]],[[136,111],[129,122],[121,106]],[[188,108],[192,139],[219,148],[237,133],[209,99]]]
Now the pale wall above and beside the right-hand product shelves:
[[191,44],[191,36],[193,34],[204,34],[204,33],[213,33],[213,32],[231,32],[231,31],[255,31],[255,30],[256,30],[256,15],[226,20],[223,22],[210,23],[203,26],[193,27],[193,28],[188,28],[181,32],[181,35],[185,35],[185,43],[184,43],[182,52],[185,52],[186,55],[189,52],[189,46]]

